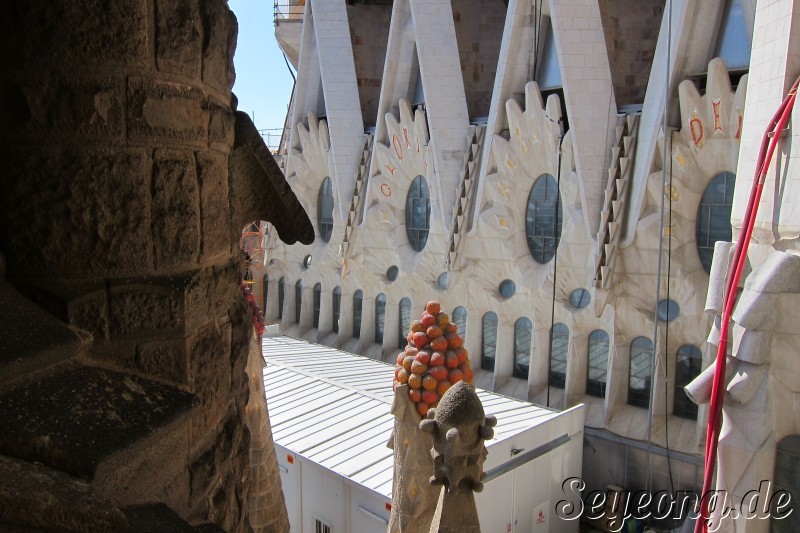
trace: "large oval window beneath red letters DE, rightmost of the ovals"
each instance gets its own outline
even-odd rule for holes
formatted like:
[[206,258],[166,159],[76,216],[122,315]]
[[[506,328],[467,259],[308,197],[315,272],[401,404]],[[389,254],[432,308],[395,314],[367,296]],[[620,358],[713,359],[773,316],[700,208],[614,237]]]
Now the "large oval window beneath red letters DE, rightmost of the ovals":
[[697,208],[696,240],[697,253],[706,272],[711,272],[714,258],[714,243],[730,241],[731,207],[733,206],[733,186],[736,176],[723,172],[714,176],[708,184],[700,206]]

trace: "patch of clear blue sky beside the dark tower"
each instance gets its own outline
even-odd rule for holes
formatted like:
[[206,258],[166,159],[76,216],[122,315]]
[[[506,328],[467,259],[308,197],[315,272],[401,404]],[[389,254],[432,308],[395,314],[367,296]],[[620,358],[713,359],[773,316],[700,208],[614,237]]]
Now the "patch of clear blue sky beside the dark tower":
[[[236,55],[236,83],[233,92],[239,110],[253,118],[260,130],[276,128],[270,144],[277,144],[292,94],[292,76],[275,40],[272,2],[229,0],[239,21]],[[275,147],[275,146],[272,146]]]

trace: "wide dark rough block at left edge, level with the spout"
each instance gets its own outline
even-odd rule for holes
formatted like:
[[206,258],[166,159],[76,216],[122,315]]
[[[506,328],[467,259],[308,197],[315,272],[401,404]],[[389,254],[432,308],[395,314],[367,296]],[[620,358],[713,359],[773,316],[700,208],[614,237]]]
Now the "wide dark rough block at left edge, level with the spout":
[[20,148],[5,165],[0,227],[9,276],[86,279],[150,268],[142,151]]

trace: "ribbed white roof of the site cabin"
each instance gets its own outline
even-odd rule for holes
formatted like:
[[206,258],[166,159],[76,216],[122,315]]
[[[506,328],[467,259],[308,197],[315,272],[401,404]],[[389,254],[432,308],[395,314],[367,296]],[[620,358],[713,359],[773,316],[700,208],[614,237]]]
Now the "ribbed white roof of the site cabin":
[[[394,366],[291,337],[264,337],[264,388],[275,443],[387,498],[392,495]],[[497,417],[486,446],[561,413],[476,389]]]

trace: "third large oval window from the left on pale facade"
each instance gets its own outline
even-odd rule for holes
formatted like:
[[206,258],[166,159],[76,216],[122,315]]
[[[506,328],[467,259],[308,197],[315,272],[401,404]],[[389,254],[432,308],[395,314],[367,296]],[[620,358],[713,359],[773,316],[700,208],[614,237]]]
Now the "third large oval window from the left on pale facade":
[[561,197],[550,174],[542,174],[531,187],[525,210],[525,236],[533,258],[541,264],[550,261],[561,239]]

